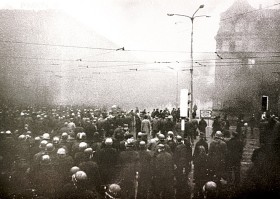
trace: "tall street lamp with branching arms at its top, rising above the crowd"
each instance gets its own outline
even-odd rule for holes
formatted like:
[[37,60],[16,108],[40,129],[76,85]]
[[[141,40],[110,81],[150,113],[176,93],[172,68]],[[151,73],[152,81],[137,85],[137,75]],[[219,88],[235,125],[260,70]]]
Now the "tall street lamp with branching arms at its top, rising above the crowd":
[[192,23],[192,31],[191,31],[191,68],[190,68],[190,72],[191,72],[191,89],[190,89],[190,93],[191,93],[191,107],[190,107],[190,118],[192,118],[192,110],[193,110],[193,21],[195,18],[197,17],[210,17],[208,15],[198,15],[195,16],[195,14],[197,13],[197,11],[201,8],[204,8],[204,5],[200,5],[197,10],[193,13],[192,16],[188,16],[188,15],[182,15],[182,14],[167,14],[167,16],[180,16],[180,17],[187,17],[191,20]]

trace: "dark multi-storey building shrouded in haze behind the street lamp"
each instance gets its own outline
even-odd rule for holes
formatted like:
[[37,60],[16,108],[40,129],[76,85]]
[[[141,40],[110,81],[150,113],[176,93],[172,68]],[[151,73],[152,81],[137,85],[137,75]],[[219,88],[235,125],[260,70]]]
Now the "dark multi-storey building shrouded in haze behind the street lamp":
[[236,116],[268,109],[279,115],[280,10],[236,0],[221,14],[215,39],[213,109]]

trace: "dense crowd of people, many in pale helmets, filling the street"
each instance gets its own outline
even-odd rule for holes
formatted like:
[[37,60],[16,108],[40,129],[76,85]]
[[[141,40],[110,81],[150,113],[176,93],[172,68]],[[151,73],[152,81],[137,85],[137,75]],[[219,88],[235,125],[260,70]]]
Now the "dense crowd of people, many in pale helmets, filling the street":
[[[240,180],[252,120],[215,117],[181,130],[180,110],[7,107],[0,110],[0,198],[239,198],[280,189],[275,116]],[[249,134],[251,132],[251,134]],[[193,174],[192,174],[193,173]],[[191,177],[192,176],[192,177]],[[274,196],[274,195],[273,195]],[[244,198],[245,198],[244,197]]]

